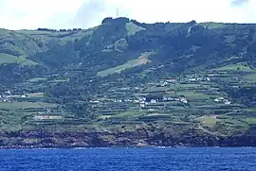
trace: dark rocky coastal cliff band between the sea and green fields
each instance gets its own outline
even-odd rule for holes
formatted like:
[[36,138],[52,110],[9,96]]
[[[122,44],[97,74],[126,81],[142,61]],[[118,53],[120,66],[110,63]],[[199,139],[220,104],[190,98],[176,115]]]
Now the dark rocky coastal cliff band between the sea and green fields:
[[218,137],[198,130],[188,130],[179,136],[168,132],[150,132],[145,128],[122,132],[1,132],[0,148],[38,147],[147,147],[147,146],[256,146],[256,136]]

